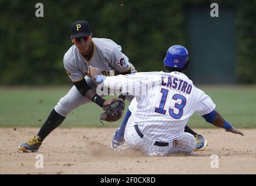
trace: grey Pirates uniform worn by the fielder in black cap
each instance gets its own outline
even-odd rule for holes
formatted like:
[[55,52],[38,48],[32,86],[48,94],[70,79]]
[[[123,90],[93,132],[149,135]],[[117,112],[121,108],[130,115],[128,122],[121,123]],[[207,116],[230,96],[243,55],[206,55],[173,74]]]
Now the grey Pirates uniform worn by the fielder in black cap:
[[[114,41],[105,38],[92,38],[92,44],[93,52],[88,60],[82,56],[75,45],[72,45],[65,53],[64,67],[73,82],[78,82],[85,78],[86,83],[93,90],[96,90],[96,82],[89,76],[86,76],[89,65],[98,67],[104,76],[116,76],[117,74],[126,74],[130,71],[131,73],[136,72],[128,57],[122,53],[121,46],[117,45]],[[114,74],[110,74],[111,70],[114,71]],[[133,97],[127,97],[129,101],[132,100],[131,98]],[[71,110],[88,102],[91,101],[80,94],[75,85],[73,85],[68,94],[59,99],[54,109],[59,115],[66,117]]]

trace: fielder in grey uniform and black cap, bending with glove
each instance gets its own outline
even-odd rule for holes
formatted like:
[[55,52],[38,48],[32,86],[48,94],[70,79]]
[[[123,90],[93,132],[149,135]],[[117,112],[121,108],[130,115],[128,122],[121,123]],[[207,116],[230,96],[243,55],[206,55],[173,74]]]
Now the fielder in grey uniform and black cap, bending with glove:
[[[59,99],[38,134],[19,145],[19,149],[23,152],[37,152],[47,135],[57,128],[73,109],[91,101],[101,107],[112,102],[112,100],[106,101],[96,94],[97,83],[87,76],[90,65],[97,67],[100,74],[104,76],[110,76],[110,71],[114,71],[115,76],[136,72],[128,57],[122,53],[121,46],[112,40],[93,38],[90,25],[85,20],[71,24],[71,41],[73,45],[64,55],[64,67],[74,85],[68,94]],[[128,101],[131,101],[132,98],[133,96],[127,96]],[[118,100],[123,102],[125,95],[120,95]],[[126,115],[129,115],[129,112]],[[122,126],[121,130],[126,126],[125,121]],[[185,131],[194,133],[187,126]],[[198,145],[204,146],[205,139],[201,135],[199,136],[201,138],[198,138]]]

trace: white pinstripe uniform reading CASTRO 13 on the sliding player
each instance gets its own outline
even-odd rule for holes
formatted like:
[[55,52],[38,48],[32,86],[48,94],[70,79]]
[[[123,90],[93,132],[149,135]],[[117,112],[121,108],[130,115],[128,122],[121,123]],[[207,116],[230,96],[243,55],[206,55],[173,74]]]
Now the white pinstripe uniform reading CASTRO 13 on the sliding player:
[[[148,155],[194,151],[197,145],[195,137],[184,133],[184,127],[194,112],[206,115],[216,106],[208,95],[179,72],[107,77],[104,85],[135,96],[129,106],[132,115],[124,138],[129,145]],[[143,136],[139,136],[135,126]],[[159,146],[156,142],[167,145]]]

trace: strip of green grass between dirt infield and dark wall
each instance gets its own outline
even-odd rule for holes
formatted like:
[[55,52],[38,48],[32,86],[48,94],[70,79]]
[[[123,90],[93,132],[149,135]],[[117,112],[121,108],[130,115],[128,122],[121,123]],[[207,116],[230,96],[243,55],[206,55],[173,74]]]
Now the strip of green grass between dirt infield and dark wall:
[[[213,102],[216,110],[233,126],[256,127],[256,87],[230,85],[199,85]],[[70,87],[0,87],[0,127],[40,127],[58,99]],[[128,107],[129,102],[126,104]],[[103,110],[94,103],[88,103],[73,110],[66,117],[62,127],[118,127],[121,120],[102,125],[99,115]],[[195,113],[190,127],[212,127]]]

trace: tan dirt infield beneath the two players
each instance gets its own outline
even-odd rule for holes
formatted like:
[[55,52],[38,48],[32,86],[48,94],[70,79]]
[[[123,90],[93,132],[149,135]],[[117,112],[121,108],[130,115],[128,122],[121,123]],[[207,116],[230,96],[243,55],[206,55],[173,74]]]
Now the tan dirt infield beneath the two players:
[[[21,153],[17,150],[20,142],[33,137],[38,128],[0,128],[0,174],[256,173],[256,130],[242,129],[242,137],[221,129],[196,129],[209,141],[206,151],[162,157],[149,157],[132,149],[112,151],[114,130],[58,128],[37,153]],[[37,154],[43,155],[43,169],[35,166]],[[213,154],[219,157],[219,168],[211,168]]]

